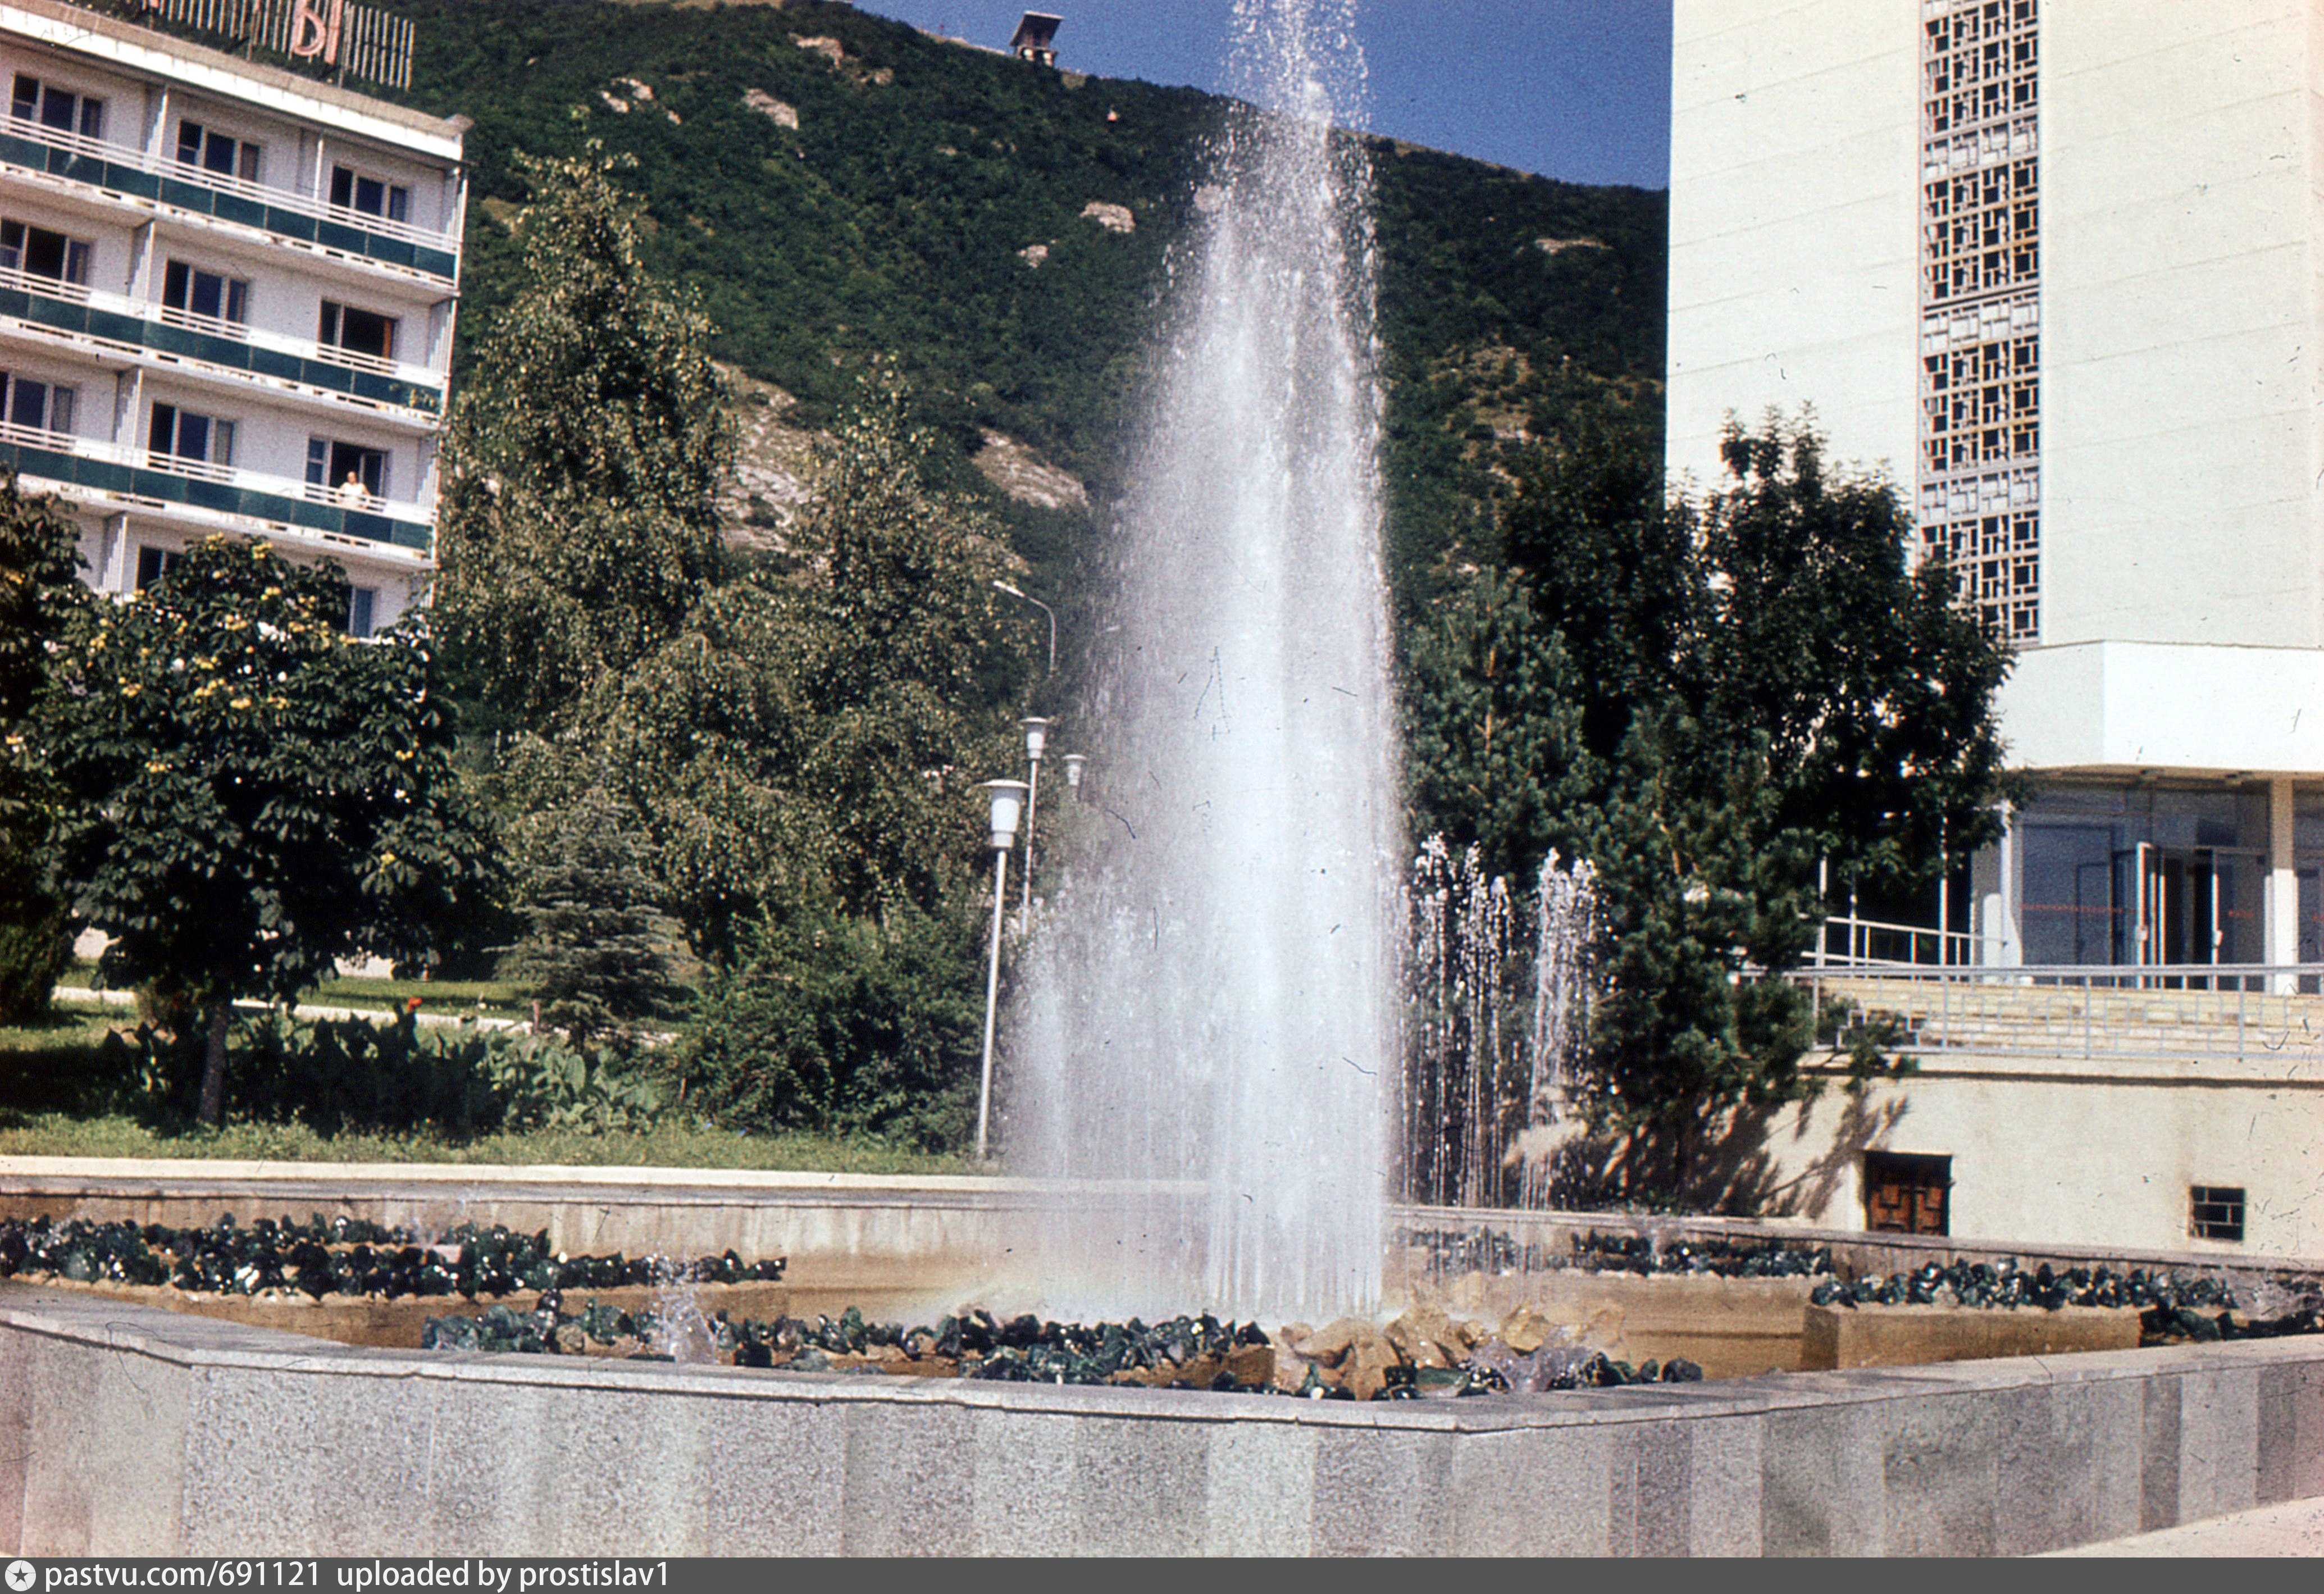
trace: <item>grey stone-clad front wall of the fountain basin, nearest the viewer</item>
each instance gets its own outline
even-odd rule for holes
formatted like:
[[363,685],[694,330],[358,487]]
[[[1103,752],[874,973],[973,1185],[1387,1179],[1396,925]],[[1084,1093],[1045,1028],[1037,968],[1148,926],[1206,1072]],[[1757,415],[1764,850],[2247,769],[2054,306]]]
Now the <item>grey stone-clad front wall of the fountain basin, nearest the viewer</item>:
[[2324,1494],[2324,1343],[1466,1401],[353,1350],[0,1285],[21,1554],[2020,1554]]

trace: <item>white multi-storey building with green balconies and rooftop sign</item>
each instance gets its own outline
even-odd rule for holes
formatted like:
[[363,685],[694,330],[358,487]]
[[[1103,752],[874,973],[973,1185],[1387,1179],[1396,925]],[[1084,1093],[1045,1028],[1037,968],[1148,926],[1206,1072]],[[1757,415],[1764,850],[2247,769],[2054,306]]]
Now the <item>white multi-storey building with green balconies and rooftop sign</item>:
[[[356,12],[277,9],[295,53]],[[53,0],[0,0],[0,460],[70,504],[88,579],[253,534],[335,558],[353,632],[395,620],[435,555],[467,123]]]

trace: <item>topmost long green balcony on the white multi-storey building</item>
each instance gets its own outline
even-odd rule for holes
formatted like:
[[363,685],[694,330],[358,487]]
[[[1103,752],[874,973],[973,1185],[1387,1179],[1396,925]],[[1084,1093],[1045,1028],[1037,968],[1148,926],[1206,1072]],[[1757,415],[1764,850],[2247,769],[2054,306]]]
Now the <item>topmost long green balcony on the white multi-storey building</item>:
[[267,188],[125,144],[44,128],[21,116],[0,121],[0,170],[5,167],[79,184],[139,211],[167,207],[186,216],[251,228],[311,253],[432,279],[446,288],[460,279],[456,232],[430,232],[407,221],[372,216],[288,188]]

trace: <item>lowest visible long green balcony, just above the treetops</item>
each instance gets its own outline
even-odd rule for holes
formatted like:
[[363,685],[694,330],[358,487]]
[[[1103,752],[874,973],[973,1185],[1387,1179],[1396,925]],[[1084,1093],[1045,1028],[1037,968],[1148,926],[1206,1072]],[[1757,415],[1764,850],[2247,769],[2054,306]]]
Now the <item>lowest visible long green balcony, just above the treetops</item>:
[[[232,465],[207,465],[146,448],[123,448],[93,437],[0,423],[0,465],[35,490],[100,502],[105,509],[149,509],[172,518],[211,520],[221,530],[263,520],[351,544],[386,544],[425,555],[435,541],[432,507]],[[246,527],[263,530],[263,527]]]

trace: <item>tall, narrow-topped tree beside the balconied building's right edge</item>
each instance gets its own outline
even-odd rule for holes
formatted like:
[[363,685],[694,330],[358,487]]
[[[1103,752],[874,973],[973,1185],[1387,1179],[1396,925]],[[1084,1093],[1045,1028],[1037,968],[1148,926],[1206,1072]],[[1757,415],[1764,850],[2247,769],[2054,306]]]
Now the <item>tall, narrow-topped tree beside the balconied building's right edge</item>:
[[521,286],[444,437],[437,627],[465,690],[528,727],[669,641],[730,569],[711,328],[644,267],[616,170],[595,146],[518,158]]

